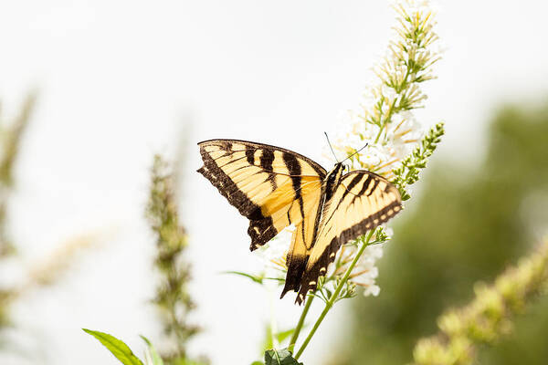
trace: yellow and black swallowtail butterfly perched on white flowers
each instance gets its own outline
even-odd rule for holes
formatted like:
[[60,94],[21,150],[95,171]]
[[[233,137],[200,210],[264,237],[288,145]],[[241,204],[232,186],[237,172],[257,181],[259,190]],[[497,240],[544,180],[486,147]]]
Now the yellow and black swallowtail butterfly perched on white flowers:
[[299,153],[250,141],[198,146],[204,166],[197,172],[249,219],[251,251],[295,226],[281,297],[296,291],[299,304],[316,289],[341,245],[402,210],[399,191],[374,172],[347,172],[342,162],[327,172]]

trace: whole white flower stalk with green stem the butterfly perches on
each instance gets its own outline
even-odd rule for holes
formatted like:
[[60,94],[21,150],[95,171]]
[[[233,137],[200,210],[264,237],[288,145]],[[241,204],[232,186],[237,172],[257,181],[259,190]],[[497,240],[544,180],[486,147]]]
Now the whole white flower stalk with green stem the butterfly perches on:
[[[428,5],[422,4],[407,0],[395,5],[396,38],[390,42],[388,53],[381,64],[374,68],[379,83],[370,90],[371,99],[362,106],[362,110],[349,114],[350,123],[334,144],[336,150],[348,157],[352,156],[350,160],[353,169],[366,169],[384,175],[395,184],[404,200],[410,197],[406,186],[416,183],[418,172],[426,167],[427,158],[444,134],[443,123],[438,123],[423,137],[411,112],[424,106],[427,96],[419,85],[435,78],[431,72],[432,66],[440,58],[439,53],[432,49],[437,41],[433,29],[436,25],[434,16]],[[417,141],[420,141],[418,146]],[[369,143],[368,148],[359,151],[365,142]],[[343,257],[343,245],[333,264],[333,274],[319,280],[316,292],[309,295],[309,300],[312,296],[320,297],[325,307],[296,353],[296,360],[334,303],[344,297],[353,297],[356,286],[365,287],[366,295],[378,294],[379,288],[374,286],[377,271],[374,264],[371,264],[375,258],[368,257],[372,253],[364,255],[365,248],[372,245],[370,240],[374,232],[378,232],[375,243],[384,243],[388,239],[382,229],[370,231],[367,236],[357,240],[361,245],[358,244],[359,247],[351,251],[353,256],[350,257]],[[369,265],[356,267],[360,260],[369,260]],[[350,265],[346,267],[349,262]],[[343,268],[346,269],[343,276],[340,276]],[[360,283],[360,276],[365,276],[365,283]],[[330,282],[334,283],[334,292],[326,286]],[[297,326],[299,330],[308,309],[306,306],[303,309]],[[291,350],[298,337],[299,332],[296,331],[291,339]]]

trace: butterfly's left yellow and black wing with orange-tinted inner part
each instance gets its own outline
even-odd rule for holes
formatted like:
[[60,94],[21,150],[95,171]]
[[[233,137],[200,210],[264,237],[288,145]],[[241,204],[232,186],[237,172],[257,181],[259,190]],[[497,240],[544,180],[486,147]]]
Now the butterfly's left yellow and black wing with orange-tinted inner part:
[[198,145],[204,161],[198,172],[248,217],[251,250],[295,225],[286,287],[299,287],[320,223],[325,170],[299,153],[267,144],[211,140]]

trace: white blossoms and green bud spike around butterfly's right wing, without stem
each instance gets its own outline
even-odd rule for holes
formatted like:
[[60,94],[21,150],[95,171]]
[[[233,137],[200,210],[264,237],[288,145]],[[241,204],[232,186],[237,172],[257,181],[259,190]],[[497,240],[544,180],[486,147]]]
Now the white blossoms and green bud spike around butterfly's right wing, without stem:
[[[349,157],[353,170],[365,169],[391,180],[406,200],[406,185],[416,182],[418,170],[426,166],[443,134],[439,123],[425,136],[413,114],[427,99],[419,85],[434,78],[431,67],[439,59],[439,51],[432,50],[437,35],[429,2],[406,0],[395,5],[395,10],[397,36],[374,68],[379,83],[369,90],[359,110],[346,114],[333,148]],[[337,260],[351,262],[355,252],[355,245],[343,248]],[[350,281],[364,287],[365,295],[380,291],[374,285],[378,274],[374,263],[381,255],[380,246],[367,247],[360,264],[353,267]]]

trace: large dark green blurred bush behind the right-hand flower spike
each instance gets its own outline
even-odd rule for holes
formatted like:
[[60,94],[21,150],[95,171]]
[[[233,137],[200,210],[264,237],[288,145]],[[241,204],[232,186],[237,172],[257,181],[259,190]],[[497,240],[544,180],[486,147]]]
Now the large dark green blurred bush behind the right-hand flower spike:
[[[407,204],[386,246],[380,297],[354,301],[352,330],[332,363],[411,362],[416,340],[437,332],[444,309],[467,303],[475,282],[492,280],[543,233],[548,104],[502,108],[487,140],[486,153],[472,167],[432,164],[421,197]],[[528,309],[511,336],[480,351],[479,363],[548,359],[548,298]]]

